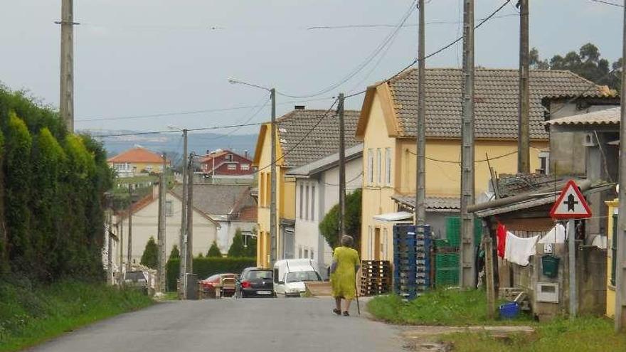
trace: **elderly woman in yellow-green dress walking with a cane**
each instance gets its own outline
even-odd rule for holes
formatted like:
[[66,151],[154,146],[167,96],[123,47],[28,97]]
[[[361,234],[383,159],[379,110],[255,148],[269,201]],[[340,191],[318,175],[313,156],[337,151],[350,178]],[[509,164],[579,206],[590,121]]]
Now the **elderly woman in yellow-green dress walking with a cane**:
[[[350,302],[356,295],[356,272],[359,270],[359,253],[352,249],[354,239],[351,236],[341,237],[341,247],[336,247],[333,253],[330,281],[332,294],[335,299],[333,313],[341,315],[343,308],[344,316],[349,316]],[[344,306],[341,307],[341,299]]]

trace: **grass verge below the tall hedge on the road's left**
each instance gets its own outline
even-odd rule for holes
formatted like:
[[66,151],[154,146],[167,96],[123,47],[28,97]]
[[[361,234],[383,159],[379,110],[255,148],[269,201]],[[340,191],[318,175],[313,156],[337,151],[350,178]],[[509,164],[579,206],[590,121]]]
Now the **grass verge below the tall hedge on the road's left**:
[[0,281],[0,351],[18,351],[80,326],[153,304],[131,289],[64,281]]

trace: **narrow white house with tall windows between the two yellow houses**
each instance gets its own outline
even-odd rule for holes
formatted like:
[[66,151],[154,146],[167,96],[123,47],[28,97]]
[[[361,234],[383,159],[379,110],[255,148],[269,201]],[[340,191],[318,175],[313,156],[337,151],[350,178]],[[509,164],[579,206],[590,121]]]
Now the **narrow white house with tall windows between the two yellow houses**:
[[[362,156],[363,144],[346,149],[346,194],[361,188]],[[324,219],[324,215],[339,203],[339,153],[292,169],[288,176],[296,178],[296,220],[292,257],[311,258],[317,260],[321,268],[329,267],[332,251],[326,239],[319,233],[319,223]]]

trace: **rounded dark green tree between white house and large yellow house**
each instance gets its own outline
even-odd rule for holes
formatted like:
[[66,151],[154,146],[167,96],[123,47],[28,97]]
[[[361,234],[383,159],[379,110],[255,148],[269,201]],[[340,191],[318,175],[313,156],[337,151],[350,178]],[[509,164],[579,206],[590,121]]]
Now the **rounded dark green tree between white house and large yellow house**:
[[[346,235],[354,238],[356,250],[361,248],[361,189],[346,196]],[[331,248],[339,246],[339,204],[324,215],[319,223],[319,232]]]

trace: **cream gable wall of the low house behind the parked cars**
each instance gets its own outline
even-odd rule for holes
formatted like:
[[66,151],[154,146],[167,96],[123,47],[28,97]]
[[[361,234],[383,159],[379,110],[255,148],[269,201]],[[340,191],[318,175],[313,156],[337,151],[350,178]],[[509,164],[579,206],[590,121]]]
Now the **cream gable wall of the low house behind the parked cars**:
[[[166,201],[172,202],[173,215],[166,216],[165,246],[166,255],[169,257],[172,247],[180,243],[181,230],[181,210],[182,203],[179,198],[166,195]],[[159,216],[159,202],[153,201],[144,208],[137,210],[132,215],[132,260],[139,264],[141,261],[146,243],[151,236],[157,240],[157,225]],[[120,248],[123,252],[124,262],[127,259],[128,250],[128,219],[123,220],[124,232]],[[119,237],[119,236],[118,236]],[[217,227],[211,220],[205,218],[201,213],[193,211],[193,255],[202,253],[206,255],[213,240],[217,238]]]

